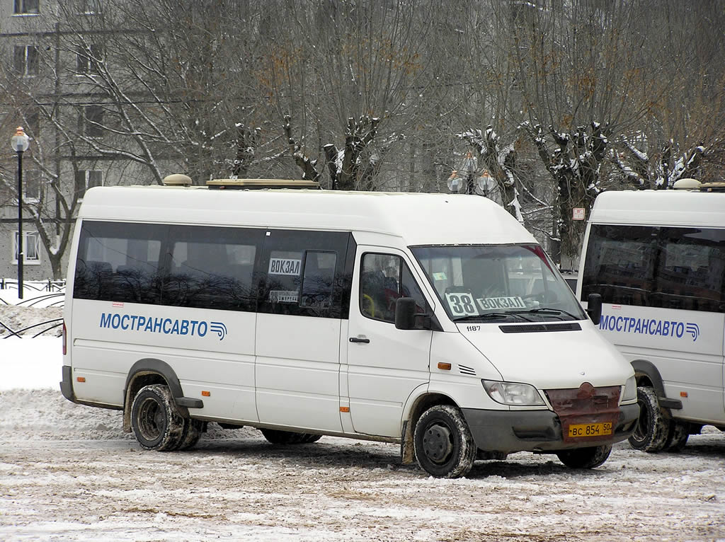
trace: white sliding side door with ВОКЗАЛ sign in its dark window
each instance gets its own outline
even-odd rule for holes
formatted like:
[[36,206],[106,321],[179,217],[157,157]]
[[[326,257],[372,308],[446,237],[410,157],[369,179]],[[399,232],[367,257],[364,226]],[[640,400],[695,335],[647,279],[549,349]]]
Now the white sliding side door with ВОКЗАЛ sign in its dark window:
[[262,423],[342,430],[339,345],[349,280],[339,279],[350,238],[341,232],[266,233],[255,332]]

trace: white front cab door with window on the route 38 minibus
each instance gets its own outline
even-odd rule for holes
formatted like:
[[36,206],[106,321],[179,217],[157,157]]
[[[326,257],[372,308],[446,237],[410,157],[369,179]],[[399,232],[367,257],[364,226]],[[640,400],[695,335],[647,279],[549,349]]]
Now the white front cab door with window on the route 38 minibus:
[[358,247],[347,346],[349,413],[356,433],[399,437],[410,393],[430,379],[431,330],[395,328],[395,300],[428,302],[405,255]]

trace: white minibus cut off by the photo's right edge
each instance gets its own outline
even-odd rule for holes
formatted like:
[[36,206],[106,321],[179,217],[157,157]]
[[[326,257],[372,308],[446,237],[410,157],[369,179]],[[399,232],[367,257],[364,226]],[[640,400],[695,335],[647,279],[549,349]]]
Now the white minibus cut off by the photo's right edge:
[[602,296],[600,330],[634,367],[644,451],[725,430],[725,193],[703,188],[602,193],[584,238],[577,295]]

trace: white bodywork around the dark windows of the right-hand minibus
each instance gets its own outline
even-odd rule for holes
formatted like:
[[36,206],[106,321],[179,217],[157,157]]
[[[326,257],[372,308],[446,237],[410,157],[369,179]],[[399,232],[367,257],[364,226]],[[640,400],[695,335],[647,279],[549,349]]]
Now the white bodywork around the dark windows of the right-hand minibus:
[[[605,192],[589,217],[585,249],[593,225],[725,229],[725,193]],[[583,253],[579,299],[585,259]],[[725,424],[724,313],[605,303],[600,331],[629,362],[645,360],[657,367],[666,396],[682,401],[682,409],[671,411],[674,417]]]

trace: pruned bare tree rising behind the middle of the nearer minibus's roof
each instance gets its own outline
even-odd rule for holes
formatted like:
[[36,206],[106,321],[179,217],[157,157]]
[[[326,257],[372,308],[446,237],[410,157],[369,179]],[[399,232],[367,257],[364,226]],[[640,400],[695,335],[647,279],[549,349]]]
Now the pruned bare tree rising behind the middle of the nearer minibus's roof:
[[278,3],[290,27],[267,27],[260,81],[304,178],[345,190],[384,184],[389,150],[415,122],[407,99],[428,78],[418,54],[431,27],[424,4]]

